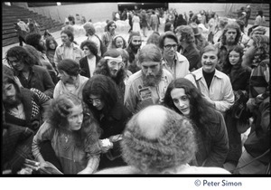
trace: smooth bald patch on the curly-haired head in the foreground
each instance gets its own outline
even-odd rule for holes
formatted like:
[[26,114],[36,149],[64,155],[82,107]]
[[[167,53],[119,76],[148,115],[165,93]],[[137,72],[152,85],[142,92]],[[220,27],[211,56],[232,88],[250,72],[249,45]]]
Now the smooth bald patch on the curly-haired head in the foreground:
[[163,106],[150,106],[143,109],[137,117],[137,123],[145,138],[158,138],[164,127],[166,111]]

